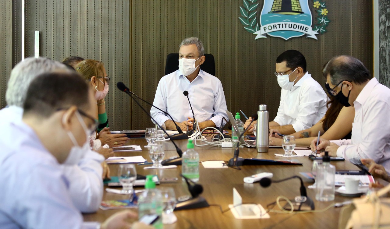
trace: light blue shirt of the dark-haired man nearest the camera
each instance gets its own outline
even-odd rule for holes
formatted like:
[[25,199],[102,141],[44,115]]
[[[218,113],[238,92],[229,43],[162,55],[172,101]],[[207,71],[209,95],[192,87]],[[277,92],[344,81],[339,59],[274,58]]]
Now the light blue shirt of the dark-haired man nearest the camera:
[[57,159],[28,125],[2,125],[0,136],[0,225],[16,228],[97,228],[83,224]]

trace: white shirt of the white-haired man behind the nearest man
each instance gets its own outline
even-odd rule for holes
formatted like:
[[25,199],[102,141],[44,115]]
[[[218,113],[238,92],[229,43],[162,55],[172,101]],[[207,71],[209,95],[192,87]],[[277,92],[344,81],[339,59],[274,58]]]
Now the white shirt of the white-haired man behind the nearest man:
[[[20,122],[23,109],[9,106],[0,110],[0,126],[7,123]],[[3,134],[9,134],[3,132]],[[0,155],[2,151],[0,151]],[[105,158],[95,151],[88,151],[77,165],[61,165],[64,176],[69,183],[69,192],[74,205],[83,213],[95,212],[99,209],[103,197],[103,169],[101,163]]]

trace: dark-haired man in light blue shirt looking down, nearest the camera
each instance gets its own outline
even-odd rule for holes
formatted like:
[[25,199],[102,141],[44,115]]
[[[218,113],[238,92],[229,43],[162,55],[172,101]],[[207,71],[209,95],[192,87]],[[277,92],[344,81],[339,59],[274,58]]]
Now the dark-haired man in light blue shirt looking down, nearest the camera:
[[[72,72],[42,74],[27,91],[23,119],[2,126],[0,225],[2,228],[98,228],[83,223],[60,164],[75,164],[96,129],[94,95]],[[94,108],[95,107],[95,108]],[[102,229],[129,228],[130,211],[108,218]]]

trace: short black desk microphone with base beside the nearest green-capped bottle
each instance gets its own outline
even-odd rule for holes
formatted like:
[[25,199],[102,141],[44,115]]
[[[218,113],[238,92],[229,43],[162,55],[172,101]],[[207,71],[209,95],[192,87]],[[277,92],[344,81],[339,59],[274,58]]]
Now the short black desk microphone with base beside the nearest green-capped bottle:
[[183,174],[180,174],[180,176],[182,176],[186,181],[188,191],[190,191],[191,194],[191,198],[184,201],[178,201],[176,203],[175,211],[184,209],[204,208],[210,206],[209,203],[207,203],[206,199],[204,199],[204,197],[199,196],[203,192],[202,185],[191,181]]

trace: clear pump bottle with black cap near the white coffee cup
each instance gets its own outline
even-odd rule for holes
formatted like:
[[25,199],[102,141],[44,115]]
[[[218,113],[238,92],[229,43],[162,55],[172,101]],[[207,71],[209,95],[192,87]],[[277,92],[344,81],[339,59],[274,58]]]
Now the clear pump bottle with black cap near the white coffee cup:
[[336,168],[330,164],[328,152],[325,152],[322,165],[317,167],[316,200],[333,201],[335,199]]

